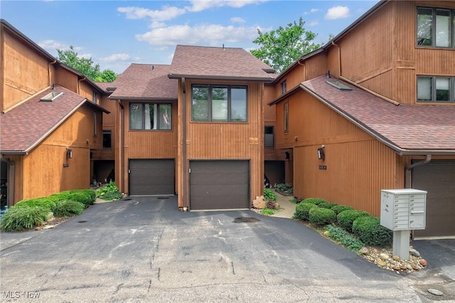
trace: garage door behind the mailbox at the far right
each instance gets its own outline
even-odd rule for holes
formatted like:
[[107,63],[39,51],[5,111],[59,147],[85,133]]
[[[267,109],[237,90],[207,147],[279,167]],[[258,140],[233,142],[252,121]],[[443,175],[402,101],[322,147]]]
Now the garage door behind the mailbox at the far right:
[[415,167],[412,188],[427,191],[426,228],[414,230],[414,238],[455,236],[455,161]]

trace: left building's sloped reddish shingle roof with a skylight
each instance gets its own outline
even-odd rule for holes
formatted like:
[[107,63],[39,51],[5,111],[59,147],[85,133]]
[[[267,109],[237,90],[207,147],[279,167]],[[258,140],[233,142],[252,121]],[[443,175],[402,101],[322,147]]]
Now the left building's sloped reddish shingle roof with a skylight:
[[49,87],[21,105],[0,114],[1,154],[26,154],[31,151],[84,104],[109,113],[59,85],[55,85],[55,92],[63,92],[63,95],[52,102],[41,102],[40,99],[50,92],[53,90]]

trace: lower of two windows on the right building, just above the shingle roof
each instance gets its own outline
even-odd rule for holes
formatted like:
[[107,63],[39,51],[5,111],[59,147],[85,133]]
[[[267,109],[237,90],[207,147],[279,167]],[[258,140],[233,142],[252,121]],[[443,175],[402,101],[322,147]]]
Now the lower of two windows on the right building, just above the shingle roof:
[[455,102],[455,77],[417,76],[417,102]]

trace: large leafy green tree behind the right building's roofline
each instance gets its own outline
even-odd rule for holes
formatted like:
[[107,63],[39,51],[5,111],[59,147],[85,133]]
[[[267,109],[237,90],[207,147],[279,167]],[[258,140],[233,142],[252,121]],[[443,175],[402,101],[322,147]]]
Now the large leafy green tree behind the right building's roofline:
[[259,48],[251,50],[252,55],[272,66],[277,73],[281,73],[302,55],[321,47],[312,42],[317,34],[306,31],[304,24],[303,19],[299,18],[299,23],[294,21],[286,28],[280,26],[269,33],[262,33],[258,29],[259,36],[253,43],[258,44]]

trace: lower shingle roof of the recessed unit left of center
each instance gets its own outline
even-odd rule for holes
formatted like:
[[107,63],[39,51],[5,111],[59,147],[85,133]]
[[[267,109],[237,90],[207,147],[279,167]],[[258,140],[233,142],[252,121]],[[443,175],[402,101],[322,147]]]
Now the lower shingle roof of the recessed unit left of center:
[[133,63],[111,83],[117,87],[111,99],[175,99],[178,95],[178,80],[169,79],[171,65]]

